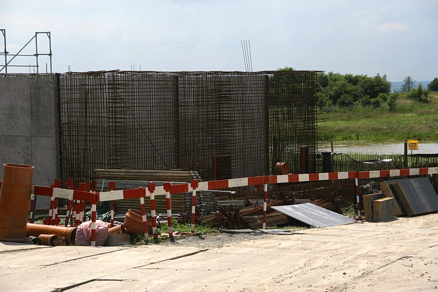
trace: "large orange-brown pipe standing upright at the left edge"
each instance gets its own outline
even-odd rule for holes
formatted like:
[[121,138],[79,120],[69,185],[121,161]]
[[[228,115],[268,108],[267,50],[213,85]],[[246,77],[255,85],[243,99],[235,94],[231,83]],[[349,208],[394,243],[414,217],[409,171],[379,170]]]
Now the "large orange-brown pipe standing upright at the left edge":
[[34,166],[3,164],[0,190],[0,241],[26,242]]

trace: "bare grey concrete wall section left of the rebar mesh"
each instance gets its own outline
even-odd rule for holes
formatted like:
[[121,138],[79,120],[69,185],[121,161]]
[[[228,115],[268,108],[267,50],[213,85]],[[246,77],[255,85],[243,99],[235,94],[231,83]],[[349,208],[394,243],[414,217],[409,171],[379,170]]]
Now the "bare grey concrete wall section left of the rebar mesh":
[[[0,175],[3,164],[33,165],[33,182],[49,186],[57,178],[56,78],[0,76]],[[37,208],[49,207],[38,197]]]

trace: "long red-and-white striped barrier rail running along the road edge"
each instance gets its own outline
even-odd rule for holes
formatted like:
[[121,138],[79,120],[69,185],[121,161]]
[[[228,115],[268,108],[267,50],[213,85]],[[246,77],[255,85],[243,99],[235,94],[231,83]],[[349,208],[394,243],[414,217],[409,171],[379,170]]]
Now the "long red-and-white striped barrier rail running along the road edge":
[[[239,178],[230,180],[220,180],[211,182],[198,182],[196,184],[183,183],[183,184],[164,184],[164,186],[155,187],[153,183],[149,184],[146,189],[140,190],[129,189],[119,191],[108,191],[101,193],[94,193],[81,190],[62,189],[56,187],[45,186],[32,186],[32,194],[42,195],[54,198],[64,198],[67,200],[76,201],[89,201],[91,203],[91,214],[95,215],[95,205],[99,201],[113,201],[131,198],[144,198],[157,195],[166,195],[167,206],[167,219],[169,223],[169,237],[173,239],[172,221],[171,221],[171,194],[187,193],[202,190],[216,190],[222,188],[249,186],[249,185],[265,185],[265,192],[267,193],[267,185],[273,183],[297,183],[297,182],[312,182],[312,181],[327,181],[327,180],[341,180],[341,179],[356,179],[355,185],[358,186],[358,179],[372,179],[372,178],[389,178],[399,176],[414,176],[414,175],[429,175],[437,174],[438,167],[426,167],[426,168],[408,168],[408,169],[394,169],[394,170],[376,170],[376,171],[348,171],[348,172],[327,172],[327,173],[306,173],[306,174],[288,174],[288,175],[272,175],[272,176],[259,176],[250,178]],[[359,197],[358,187],[356,188],[356,197]],[[167,200],[168,199],[168,200]],[[192,201],[193,202],[193,201]],[[193,204],[193,203],[192,203]],[[265,204],[265,201],[264,201]],[[359,206],[359,205],[358,205]],[[264,206],[264,210],[265,210]],[[358,208],[360,210],[360,208]],[[76,212],[77,213],[77,212]],[[192,211],[193,214],[193,211]],[[155,214],[152,214],[155,215]],[[360,216],[360,212],[358,213]],[[154,216],[152,216],[154,218]],[[95,245],[95,216],[91,215],[91,220],[94,222],[92,228],[94,232],[91,234],[92,245]]]

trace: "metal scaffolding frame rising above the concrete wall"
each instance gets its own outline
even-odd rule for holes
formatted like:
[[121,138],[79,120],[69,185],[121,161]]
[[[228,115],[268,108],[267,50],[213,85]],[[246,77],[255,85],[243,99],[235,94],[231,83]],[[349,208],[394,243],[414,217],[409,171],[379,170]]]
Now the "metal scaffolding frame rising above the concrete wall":
[[[46,56],[49,56],[49,58],[50,58],[50,73],[52,73],[52,38],[51,38],[50,32],[36,32],[35,35],[18,51],[17,54],[9,55],[9,56],[12,56],[12,58],[9,61],[8,61],[9,52],[6,50],[6,29],[0,29],[0,32],[3,36],[3,43],[4,43],[4,51],[2,53],[0,53],[0,55],[4,55],[4,65],[3,65],[3,67],[1,67],[0,72],[4,69],[5,73],[8,73],[8,67],[29,67],[29,70],[30,70],[30,68],[34,68],[34,71],[35,71],[35,68],[37,68],[37,73],[39,73],[38,56],[46,55]],[[48,41],[49,41],[49,53],[38,53],[38,35],[39,34],[45,34],[47,36]],[[23,51],[24,48],[26,48],[26,46],[34,39],[35,39],[35,54],[33,54],[33,55],[20,54],[21,51]],[[9,63],[11,63],[12,60],[14,60],[15,57],[17,57],[17,56],[35,57],[37,64],[36,65],[9,65]],[[47,65],[47,63],[46,63],[46,65]],[[46,73],[48,73],[47,66],[46,66]]]

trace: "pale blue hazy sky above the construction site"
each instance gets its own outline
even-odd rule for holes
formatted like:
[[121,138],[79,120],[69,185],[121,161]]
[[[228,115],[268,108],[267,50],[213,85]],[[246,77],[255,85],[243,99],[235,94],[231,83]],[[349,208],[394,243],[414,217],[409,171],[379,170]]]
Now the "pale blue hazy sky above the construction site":
[[[245,71],[249,40],[253,71],[438,77],[438,0],[0,0],[0,29],[10,54],[51,32],[54,73]],[[49,52],[46,35],[37,42]],[[35,54],[35,40],[21,54]],[[45,72],[49,58],[38,61]]]

